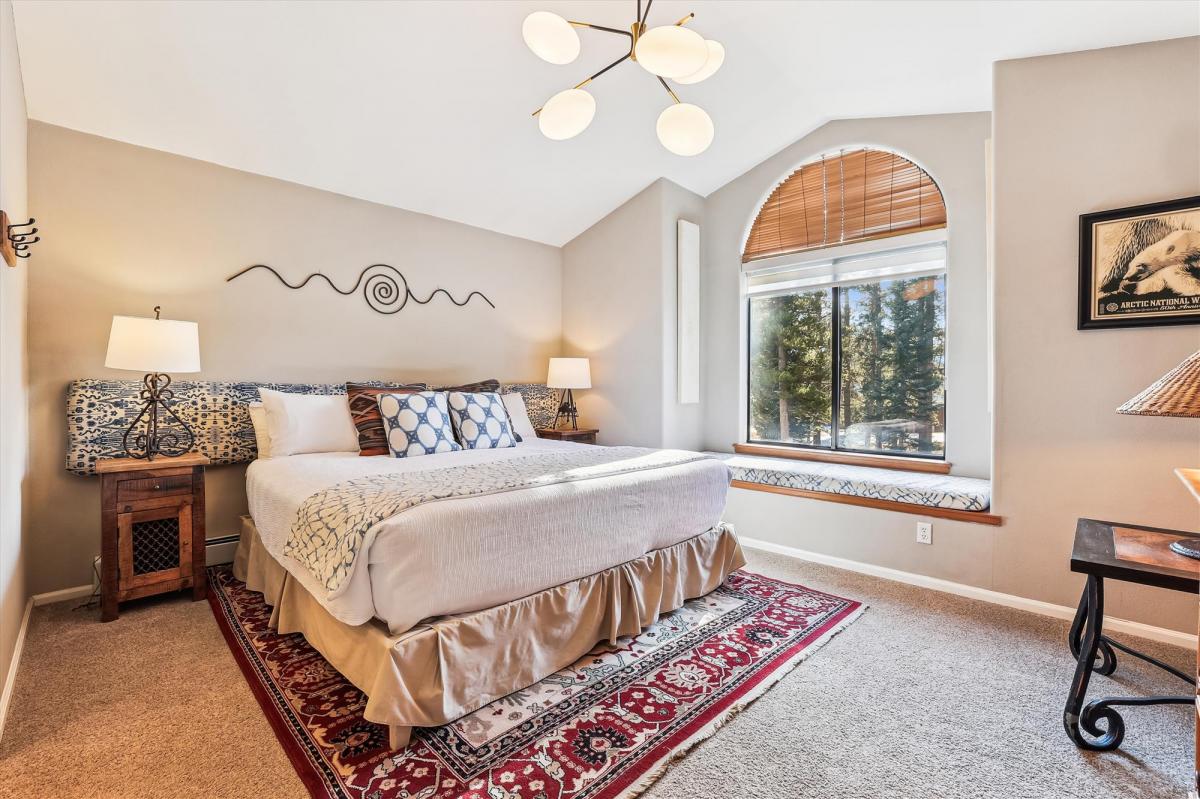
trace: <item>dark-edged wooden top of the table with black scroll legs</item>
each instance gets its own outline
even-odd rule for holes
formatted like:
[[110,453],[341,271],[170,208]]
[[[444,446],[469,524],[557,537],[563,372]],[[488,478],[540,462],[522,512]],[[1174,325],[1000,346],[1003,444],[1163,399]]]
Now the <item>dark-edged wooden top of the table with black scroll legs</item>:
[[1070,570],[1200,594],[1200,560],[1170,549],[1172,541],[1186,539],[1198,540],[1200,533],[1081,518]]

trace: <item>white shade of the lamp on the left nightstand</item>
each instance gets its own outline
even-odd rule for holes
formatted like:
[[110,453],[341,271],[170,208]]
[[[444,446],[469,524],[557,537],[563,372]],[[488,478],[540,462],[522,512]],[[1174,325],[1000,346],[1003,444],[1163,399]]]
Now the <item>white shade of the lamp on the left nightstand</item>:
[[104,366],[131,372],[199,372],[199,326],[174,319],[113,317]]

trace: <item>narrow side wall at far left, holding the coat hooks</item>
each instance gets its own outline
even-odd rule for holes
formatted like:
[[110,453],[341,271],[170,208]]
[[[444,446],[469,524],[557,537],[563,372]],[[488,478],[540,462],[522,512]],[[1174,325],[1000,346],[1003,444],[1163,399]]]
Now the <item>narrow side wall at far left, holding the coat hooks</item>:
[[[13,222],[28,218],[25,131],[12,4],[0,0],[0,209]],[[36,265],[36,257],[18,260],[16,269],[0,263],[0,685],[8,675],[29,595],[22,524],[29,463],[25,294],[26,276]]]

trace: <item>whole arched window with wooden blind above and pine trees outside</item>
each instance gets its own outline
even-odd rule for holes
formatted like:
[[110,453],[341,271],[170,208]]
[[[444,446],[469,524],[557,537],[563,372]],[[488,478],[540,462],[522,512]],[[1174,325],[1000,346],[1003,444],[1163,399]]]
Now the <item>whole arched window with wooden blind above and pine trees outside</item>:
[[823,155],[743,251],[746,440],[946,457],[946,205],[894,152]]

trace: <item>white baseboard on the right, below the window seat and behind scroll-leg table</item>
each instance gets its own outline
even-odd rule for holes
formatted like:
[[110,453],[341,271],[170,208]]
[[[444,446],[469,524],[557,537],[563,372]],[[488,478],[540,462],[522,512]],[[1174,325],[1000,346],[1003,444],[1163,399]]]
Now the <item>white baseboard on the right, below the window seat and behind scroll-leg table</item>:
[[[1003,605],[1004,607],[1016,608],[1018,611],[1027,611],[1030,613],[1037,613],[1038,615],[1049,615],[1056,619],[1075,618],[1075,608],[1067,607],[1064,605],[1043,602],[1042,600],[1032,600],[1025,596],[1016,596],[1015,594],[1003,594],[988,588],[977,588],[974,585],[955,583],[949,579],[942,579],[941,577],[929,577],[926,575],[917,575],[910,571],[900,571],[899,569],[876,566],[874,564],[848,560],[846,558],[827,555],[820,552],[809,552],[808,549],[798,549],[796,547],[774,543],[772,541],[762,541],[760,539],[748,539],[739,535],[738,541],[742,542],[742,546],[750,547],[751,549],[773,552],[775,554],[787,555],[798,560],[818,563],[826,566],[833,566],[834,569],[844,569],[860,575],[870,575],[871,577],[882,577],[883,579],[892,579],[898,583],[917,585],[918,588],[929,588],[944,594],[955,594],[967,599],[991,602],[992,605]],[[1159,643],[1183,647],[1184,649],[1196,649],[1196,636],[1187,632],[1180,632],[1178,630],[1156,627],[1150,624],[1142,624],[1141,621],[1105,617],[1104,629],[1109,632],[1123,632],[1126,635],[1138,636],[1139,638],[1148,638]]]

